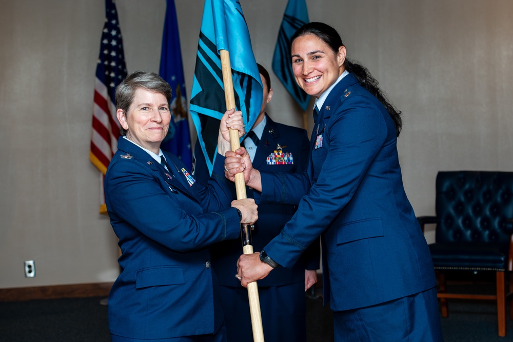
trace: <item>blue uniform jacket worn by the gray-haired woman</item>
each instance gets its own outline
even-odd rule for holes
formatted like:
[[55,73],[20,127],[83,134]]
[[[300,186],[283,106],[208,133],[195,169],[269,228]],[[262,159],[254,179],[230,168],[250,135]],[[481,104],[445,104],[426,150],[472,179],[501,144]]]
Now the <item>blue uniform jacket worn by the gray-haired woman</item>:
[[[240,234],[219,156],[208,187],[189,186],[185,166],[164,151],[167,171],[124,138],[105,175],[119,237],[121,273],[109,295],[114,335],[165,339],[209,334],[223,321],[208,246]],[[223,209],[224,208],[224,209]]]

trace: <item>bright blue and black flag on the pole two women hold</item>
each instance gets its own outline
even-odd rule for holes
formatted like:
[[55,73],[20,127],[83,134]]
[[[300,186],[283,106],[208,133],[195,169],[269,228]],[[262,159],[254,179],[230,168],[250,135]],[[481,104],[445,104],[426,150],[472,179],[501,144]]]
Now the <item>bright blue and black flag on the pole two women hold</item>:
[[242,111],[246,127],[252,127],[262,107],[263,88],[238,1],[206,0],[203,8],[190,112],[210,173],[220,120],[227,110],[220,50],[230,54],[235,109]]

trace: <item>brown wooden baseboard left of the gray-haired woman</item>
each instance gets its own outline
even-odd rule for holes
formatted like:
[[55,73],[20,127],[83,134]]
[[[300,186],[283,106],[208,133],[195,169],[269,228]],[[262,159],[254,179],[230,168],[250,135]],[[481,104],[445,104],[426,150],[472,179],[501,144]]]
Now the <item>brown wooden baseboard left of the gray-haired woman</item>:
[[0,289],[0,301],[107,297],[112,283],[72,284]]

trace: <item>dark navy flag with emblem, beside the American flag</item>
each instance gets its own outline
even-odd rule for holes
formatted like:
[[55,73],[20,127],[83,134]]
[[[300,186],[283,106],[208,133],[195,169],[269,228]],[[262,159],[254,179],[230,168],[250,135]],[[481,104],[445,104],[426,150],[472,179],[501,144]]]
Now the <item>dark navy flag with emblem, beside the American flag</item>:
[[187,119],[184,67],[174,0],[167,0],[159,73],[173,90],[170,108],[173,116],[162,147],[182,159],[182,162],[190,170],[192,168],[191,136]]

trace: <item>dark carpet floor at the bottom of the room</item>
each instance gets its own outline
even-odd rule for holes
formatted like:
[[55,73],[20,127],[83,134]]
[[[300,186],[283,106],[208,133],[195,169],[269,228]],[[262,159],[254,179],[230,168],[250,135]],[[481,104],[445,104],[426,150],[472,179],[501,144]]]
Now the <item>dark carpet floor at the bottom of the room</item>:
[[[107,307],[100,299],[0,303],[0,341],[109,342]],[[499,337],[496,317],[492,302],[452,300],[449,317],[441,318],[445,341],[513,341],[513,321],[508,320],[507,337]],[[320,297],[307,299],[307,335],[309,342],[333,340],[332,314]]]

